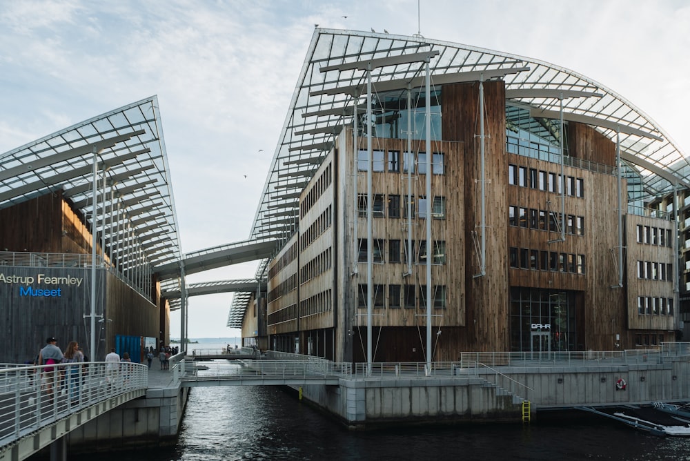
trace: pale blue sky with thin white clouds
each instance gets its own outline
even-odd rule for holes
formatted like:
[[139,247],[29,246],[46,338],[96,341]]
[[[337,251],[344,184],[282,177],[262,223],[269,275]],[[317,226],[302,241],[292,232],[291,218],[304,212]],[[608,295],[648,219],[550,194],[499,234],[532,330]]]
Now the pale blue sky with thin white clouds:
[[[247,239],[316,25],[419,32],[574,70],[690,153],[681,0],[2,0],[0,153],[157,95],[182,252]],[[239,336],[226,326],[232,296],[191,297],[189,337]],[[179,311],[170,328],[179,337]]]

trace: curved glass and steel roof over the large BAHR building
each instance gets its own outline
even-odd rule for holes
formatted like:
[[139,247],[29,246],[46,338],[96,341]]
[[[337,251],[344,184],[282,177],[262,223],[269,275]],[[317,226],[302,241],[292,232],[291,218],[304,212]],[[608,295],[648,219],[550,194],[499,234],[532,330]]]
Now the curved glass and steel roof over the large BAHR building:
[[[690,164],[655,122],[630,101],[597,81],[551,63],[447,41],[375,32],[316,29],[275,148],[250,238],[285,238],[295,228],[299,194],[353,119],[355,98],[366,99],[366,72],[342,66],[437,52],[431,58],[431,85],[504,79],[506,104],[528,108],[533,117],[558,118],[594,126],[615,141],[621,157],[643,179],[650,196],[677,185],[690,186]],[[373,91],[421,86],[424,63],[391,64],[372,71]],[[322,68],[328,70],[322,71]],[[337,66],[341,66],[337,68]],[[343,67],[349,67],[344,69]],[[471,73],[469,73],[471,72]]]

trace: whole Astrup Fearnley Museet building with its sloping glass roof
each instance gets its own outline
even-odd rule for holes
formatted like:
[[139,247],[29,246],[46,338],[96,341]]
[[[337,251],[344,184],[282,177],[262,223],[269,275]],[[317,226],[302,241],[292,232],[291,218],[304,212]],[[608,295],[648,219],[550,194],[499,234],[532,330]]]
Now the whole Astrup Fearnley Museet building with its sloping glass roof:
[[91,360],[168,344],[179,279],[155,270],[182,255],[157,97],[0,155],[0,223],[3,362],[51,336]]

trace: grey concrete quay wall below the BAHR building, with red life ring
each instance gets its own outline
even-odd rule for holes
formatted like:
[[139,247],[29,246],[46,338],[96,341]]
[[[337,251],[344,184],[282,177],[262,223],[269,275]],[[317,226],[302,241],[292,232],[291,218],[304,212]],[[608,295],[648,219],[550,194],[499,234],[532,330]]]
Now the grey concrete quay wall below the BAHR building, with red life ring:
[[[624,380],[624,389],[618,389],[618,380]],[[522,418],[522,399],[530,401],[533,412],[690,400],[690,362],[672,357],[629,365],[500,366],[477,376],[446,379],[340,380],[339,386],[303,386],[302,398],[354,429],[516,421]]]

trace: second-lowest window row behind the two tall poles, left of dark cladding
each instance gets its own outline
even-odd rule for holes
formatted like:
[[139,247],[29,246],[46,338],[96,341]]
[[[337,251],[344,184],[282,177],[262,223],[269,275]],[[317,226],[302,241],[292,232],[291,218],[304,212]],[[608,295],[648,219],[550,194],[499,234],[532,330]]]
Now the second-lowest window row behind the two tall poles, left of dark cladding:
[[[359,239],[359,254],[357,255],[357,262],[366,262],[366,244],[368,239]],[[374,239],[372,242],[371,257],[375,264],[381,263],[397,263],[408,262],[408,252],[411,251],[413,255],[413,262],[426,264],[426,240],[415,241],[412,240],[411,245],[408,245],[407,240],[402,240],[402,252],[400,251],[401,241],[398,239]],[[384,260],[386,251],[386,244],[388,245],[388,259]],[[444,240],[433,240],[433,253],[431,254],[431,264],[446,264],[446,242]],[[417,248],[417,251],[415,251]],[[400,257],[403,260],[400,260]]]

